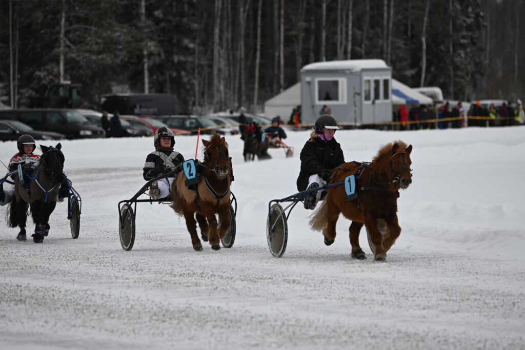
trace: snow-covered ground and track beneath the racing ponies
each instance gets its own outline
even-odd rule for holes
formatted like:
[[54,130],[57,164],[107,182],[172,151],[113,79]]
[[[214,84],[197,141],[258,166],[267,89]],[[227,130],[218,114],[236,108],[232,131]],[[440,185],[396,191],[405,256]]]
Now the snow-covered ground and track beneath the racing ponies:
[[[268,201],[297,192],[308,139],[288,134],[293,158],[270,150],[272,160],[253,163],[227,136],[237,237],[202,252],[156,204],[139,204],[135,245],[120,247],[117,204],[142,186],[152,138],[62,142],[82,196],[80,237],[71,239],[65,203],[40,245],[18,242],[0,209],[0,348],[525,348],[525,127],[338,131],[348,161],[370,161],[397,139],[414,147],[413,184],[398,200],[403,230],[383,263],[364,229],[368,259],[350,258],[343,218],[326,247],[302,206],[288,220],[286,253],[271,256]],[[195,145],[177,137],[186,158]],[[0,158],[15,150],[2,143]]]

